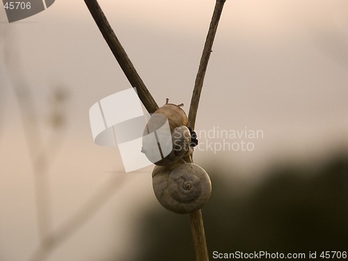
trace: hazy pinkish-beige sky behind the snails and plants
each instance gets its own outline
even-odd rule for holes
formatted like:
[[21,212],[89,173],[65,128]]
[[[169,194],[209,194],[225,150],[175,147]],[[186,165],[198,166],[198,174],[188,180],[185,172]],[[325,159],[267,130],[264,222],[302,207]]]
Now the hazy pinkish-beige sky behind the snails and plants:
[[[100,5],[157,103],[168,97],[188,112],[214,1],[100,0]],[[262,130],[263,136],[247,139],[252,151],[197,151],[196,163],[225,162],[239,171],[219,175],[253,177],[271,161],[318,159],[347,148],[347,10],[346,0],[226,1],[196,129]],[[5,57],[15,65],[15,81],[31,88],[43,143],[52,133],[46,123],[54,88],[63,86],[70,95],[66,128],[48,173],[55,229],[109,177],[124,175],[118,149],[93,143],[88,110],[130,86],[84,1],[59,0],[13,24],[1,8],[0,34],[0,207],[5,209],[0,259],[26,260],[38,244],[33,175]],[[203,138],[198,137],[223,142]],[[115,247],[119,251],[113,253],[124,255],[132,216],[144,204],[160,207],[151,168],[146,170],[127,174],[119,193],[49,260],[96,260],[97,253]]]

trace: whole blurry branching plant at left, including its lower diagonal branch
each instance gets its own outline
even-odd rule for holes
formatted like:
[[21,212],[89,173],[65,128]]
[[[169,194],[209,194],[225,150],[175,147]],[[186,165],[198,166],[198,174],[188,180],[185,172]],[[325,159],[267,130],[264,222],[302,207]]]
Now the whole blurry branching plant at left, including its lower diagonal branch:
[[[53,229],[49,168],[63,141],[68,120],[66,107],[70,92],[63,85],[52,88],[49,97],[47,97],[47,114],[43,116],[44,118],[39,116],[40,113],[35,106],[35,97],[31,90],[32,86],[26,80],[21,68],[19,54],[16,52],[15,37],[9,33],[6,34],[5,30],[0,31],[0,35],[2,47],[0,55],[5,57],[3,61],[5,61],[4,71],[6,72],[1,72],[1,74],[8,75],[9,86],[17,98],[17,106],[21,114],[23,132],[33,168],[39,245],[29,260],[47,260],[56,247],[65,242],[74,232],[77,232],[102,207],[106,200],[111,198],[113,193],[123,184],[123,179],[116,175],[111,177],[109,182],[93,193],[86,203],[81,203],[80,208],[70,216],[70,219],[63,222],[63,225],[58,229]],[[5,84],[1,84],[1,99],[3,99],[2,93],[5,91],[3,86]]]

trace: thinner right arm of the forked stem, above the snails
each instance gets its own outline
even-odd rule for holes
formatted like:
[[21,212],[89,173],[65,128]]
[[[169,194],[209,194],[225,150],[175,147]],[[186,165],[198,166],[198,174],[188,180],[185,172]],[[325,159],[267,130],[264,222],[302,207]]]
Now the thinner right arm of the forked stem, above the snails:
[[208,61],[210,54],[212,53],[212,46],[215,38],[215,33],[217,26],[219,25],[219,20],[221,17],[223,4],[226,0],[216,0],[216,5],[214,8],[214,13],[212,17],[212,22],[210,22],[209,31],[207,34],[207,39],[205,40],[205,45],[203,49],[202,58],[200,58],[200,65],[198,68],[198,73],[195,81],[195,86],[193,88],[193,94],[191,98],[191,105],[189,110],[189,127],[194,129],[196,116],[198,111],[198,104],[200,99],[200,92],[202,91],[203,81],[205,77],[205,72],[207,71]]

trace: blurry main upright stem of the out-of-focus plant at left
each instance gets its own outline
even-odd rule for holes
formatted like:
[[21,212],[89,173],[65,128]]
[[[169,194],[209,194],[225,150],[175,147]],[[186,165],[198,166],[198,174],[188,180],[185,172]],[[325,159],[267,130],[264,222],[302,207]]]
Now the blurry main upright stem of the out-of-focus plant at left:
[[31,90],[24,76],[25,74],[19,66],[19,56],[16,52],[11,51],[15,49],[14,46],[15,41],[12,38],[8,38],[4,47],[6,51],[6,70],[9,75],[10,86],[15,91],[15,97],[17,98],[24,135],[29,149],[29,157],[33,165],[38,235],[40,242],[43,242],[52,228],[51,197],[49,193],[49,182],[47,180],[48,159],[46,155],[38,159],[40,150],[43,148],[42,139],[38,132],[38,116],[35,111]]

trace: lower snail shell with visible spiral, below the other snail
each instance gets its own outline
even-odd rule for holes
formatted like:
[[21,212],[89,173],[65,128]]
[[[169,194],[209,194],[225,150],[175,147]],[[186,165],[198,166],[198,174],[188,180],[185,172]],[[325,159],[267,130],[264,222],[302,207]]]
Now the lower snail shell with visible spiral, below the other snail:
[[181,161],[166,167],[155,166],[152,186],[159,203],[178,214],[200,209],[212,192],[212,183],[205,170]]

